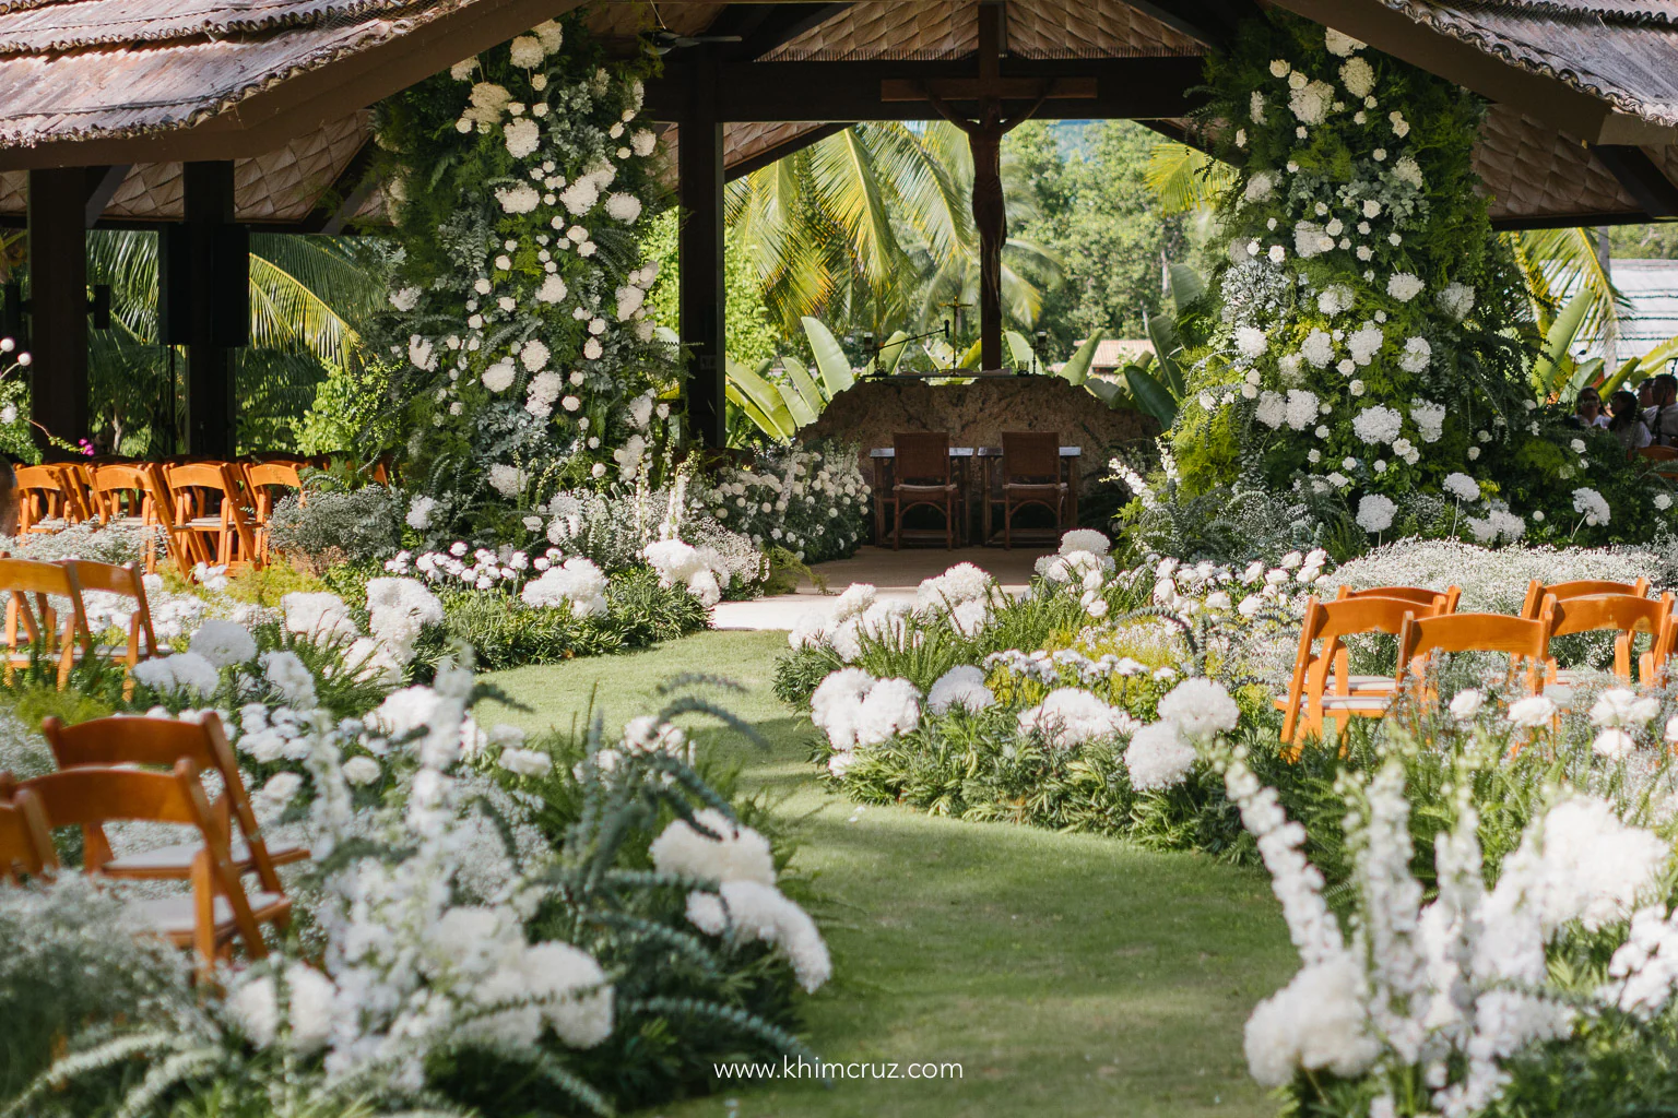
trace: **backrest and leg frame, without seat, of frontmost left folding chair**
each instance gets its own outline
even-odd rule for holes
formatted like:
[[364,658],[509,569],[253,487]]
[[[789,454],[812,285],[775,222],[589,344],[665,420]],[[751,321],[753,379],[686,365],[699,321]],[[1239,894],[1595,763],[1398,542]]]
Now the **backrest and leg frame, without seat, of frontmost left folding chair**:
[[[198,908],[193,945],[205,960],[215,959],[215,900],[225,898],[233,927],[245,940],[245,950],[252,959],[267,955],[250,898],[228,855],[227,828],[215,818],[198,781],[198,768],[191,761],[183,758],[168,773],[70,768],[23,781],[18,789],[39,796],[47,826],[79,826],[89,838],[89,850],[94,848],[91,841],[94,835],[99,835],[109,850],[109,843],[104,841],[106,823],[175,823],[196,828],[205,846],[193,863],[191,880]],[[89,873],[97,873],[99,865],[89,860],[86,868]]]

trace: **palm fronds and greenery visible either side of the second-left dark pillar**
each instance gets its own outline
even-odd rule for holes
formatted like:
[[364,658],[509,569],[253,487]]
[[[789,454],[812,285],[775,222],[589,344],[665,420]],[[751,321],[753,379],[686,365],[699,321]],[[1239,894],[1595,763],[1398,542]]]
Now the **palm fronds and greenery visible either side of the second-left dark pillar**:
[[[250,345],[238,350],[240,421],[275,437],[314,401],[327,369],[359,367],[356,323],[379,305],[383,246],[371,240],[257,233],[250,251]],[[99,443],[166,454],[183,406],[176,360],[158,344],[158,236],[96,230],[87,272],[111,285],[111,329],[89,344]]]

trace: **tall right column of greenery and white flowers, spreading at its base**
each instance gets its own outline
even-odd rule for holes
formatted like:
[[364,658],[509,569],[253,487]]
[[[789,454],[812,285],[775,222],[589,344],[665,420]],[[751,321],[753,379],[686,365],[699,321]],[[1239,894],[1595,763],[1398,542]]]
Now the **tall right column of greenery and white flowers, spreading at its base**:
[[1535,399],[1535,330],[1472,151],[1482,102],[1332,28],[1253,22],[1208,60],[1227,238],[1168,436],[1190,493],[1336,491],[1371,538],[1643,538],[1618,443]]

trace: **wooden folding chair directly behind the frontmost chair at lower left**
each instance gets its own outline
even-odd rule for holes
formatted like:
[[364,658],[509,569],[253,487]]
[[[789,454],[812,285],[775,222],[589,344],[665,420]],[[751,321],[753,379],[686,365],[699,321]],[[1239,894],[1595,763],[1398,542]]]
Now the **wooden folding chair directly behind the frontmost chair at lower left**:
[[[40,731],[60,769],[114,764],[173,768],[180,761],[191,761],[198,773],[220,773],[221,795],[213,805],[216,820],[223,828],[230,823],[238,828],[237,838],[228,831],[228,858],[242,875],[255,872],[262,888],[270,893],[284,892],[275,867],[309,857],[307,846],[282,843],[270,848],[263,840],[233,746],[213,711],[205,712],[198,722],[119,714],[65,726],[57,717],[47,717],[42,719]],[[112,858],[109,846],[89,845],[87,858],[107,877],[185,880],[200,848],[201,843],[180,843]]]

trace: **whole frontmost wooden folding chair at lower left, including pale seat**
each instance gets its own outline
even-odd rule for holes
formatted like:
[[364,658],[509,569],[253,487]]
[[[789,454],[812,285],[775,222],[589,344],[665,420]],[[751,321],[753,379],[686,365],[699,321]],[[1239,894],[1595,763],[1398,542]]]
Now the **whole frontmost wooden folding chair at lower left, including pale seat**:
[[[252,959],[263,959],[268,949],[262,942],[260,925],[284,927],[290,919],[292,902],[284,892],[245,893],[238,868],[228,857],[227,828],[210,808],[191,761],[178,761],[169,773],[62,769],[23,781],[18,789],[40,800],[47,826],[79,826],[89,855],[111,848],[104,835],[106,823],[175,823],[196,828],[203,845],[188,870],[191,893],[136,902],[131,915],[139,927],[176,947],[195,947],[201,972],[208,972],[216,959],[227,957],[235,939],[243,940]],[[86,870],[102,873],[104,865],[89,857]]]

